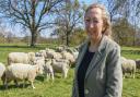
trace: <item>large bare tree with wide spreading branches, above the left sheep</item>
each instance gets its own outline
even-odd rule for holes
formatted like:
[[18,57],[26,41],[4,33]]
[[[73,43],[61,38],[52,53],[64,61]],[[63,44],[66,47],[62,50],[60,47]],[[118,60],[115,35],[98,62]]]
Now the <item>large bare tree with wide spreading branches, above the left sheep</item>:
[[[0,13],[11,24],[21,24],[31,32],[31,46],[35,46],[38,34],[54,24],[50,13],[63,0],[0,0]],[[51,23],[50,23],[51,22]]]

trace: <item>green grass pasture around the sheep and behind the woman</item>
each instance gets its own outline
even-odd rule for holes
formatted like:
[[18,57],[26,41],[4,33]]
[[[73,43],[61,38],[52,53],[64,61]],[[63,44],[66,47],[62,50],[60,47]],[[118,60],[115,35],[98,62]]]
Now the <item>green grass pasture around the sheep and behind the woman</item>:
[[[0,45],[0,62],[7,64],[8,53],[11,51],[38,51],[46,47],[54,48],[51,45],[38,46],[36,48],[30,48],[25,45]],[[138,59],[140,48],[122,47],[121,54],[126,58]],[[138,52],[138,53],[137,53]],[[122,97],[140,97],[140,72],[137,72],[137,78],[125,78]],[[70,69],[68,77],[61,78],[60,74],[57,74],[55,82],[51,83],[44,80],[44,77],[37,76],[35,80],[35,89],[32,89],[31,85],[26,85],[25,88],[15,87],[13,83],[10,83],[9,89],[3,89],[2,82],[0,81],[0,97],[70,97],[73,78],[73,69]]]

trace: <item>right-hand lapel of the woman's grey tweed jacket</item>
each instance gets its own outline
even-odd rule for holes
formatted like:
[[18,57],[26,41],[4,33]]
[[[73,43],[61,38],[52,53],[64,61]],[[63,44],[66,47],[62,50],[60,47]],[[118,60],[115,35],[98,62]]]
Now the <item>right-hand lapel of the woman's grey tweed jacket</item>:
[[85,74],[85,80],[88,78],[89,74],[91,73],[91,71],[95,68],[95,65],[101,61],[103,53],[105,51],[105,47],[106,47],[106,36],[103,36],[98,50],[95,52],[94,57],[92,58],[90,65],[88,68],[86,74]]

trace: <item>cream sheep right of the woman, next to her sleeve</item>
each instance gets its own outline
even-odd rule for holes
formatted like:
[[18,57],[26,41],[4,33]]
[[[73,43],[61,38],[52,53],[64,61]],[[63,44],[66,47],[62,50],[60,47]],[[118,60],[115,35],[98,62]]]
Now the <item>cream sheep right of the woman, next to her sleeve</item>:
[[135,60],[130,60],[130,59],[126,59],[126,58],[121,57],[120,61],[121,61],[124,78],[125,78],[126,73],[130,73],[132,75],[132,77],[135,78],[135,73],[136,73]]

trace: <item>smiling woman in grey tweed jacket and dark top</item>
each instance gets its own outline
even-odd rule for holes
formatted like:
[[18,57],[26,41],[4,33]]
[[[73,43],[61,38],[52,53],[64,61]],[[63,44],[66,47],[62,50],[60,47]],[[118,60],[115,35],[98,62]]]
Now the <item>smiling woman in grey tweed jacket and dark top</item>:
[[121,97],[120,47],[110,39],[110,21],[102,4],[84,15],[89,39],[80,48],[72,97]]

